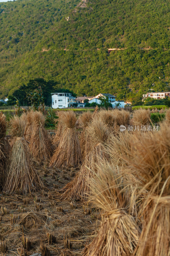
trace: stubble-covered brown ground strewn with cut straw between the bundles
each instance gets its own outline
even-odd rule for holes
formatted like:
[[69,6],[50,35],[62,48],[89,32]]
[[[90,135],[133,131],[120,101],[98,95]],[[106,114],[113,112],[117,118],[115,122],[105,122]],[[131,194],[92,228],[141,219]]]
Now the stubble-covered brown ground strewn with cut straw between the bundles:
[[[26,196],[0,193],[0,242],[5,241],[8,249],[6,254],[5,250],[2,253],[0,245],[0,253],[43,255],[42,242],[50,255],[81,255],[88,237],[99,225],[99,211],[71,198],[61,201],[58,192],[74,178],[78,169],[51,169],[48,163],[37,163],[37,171],[46,184],[43,191]],[[25,254],[21,252],[22,246]]]

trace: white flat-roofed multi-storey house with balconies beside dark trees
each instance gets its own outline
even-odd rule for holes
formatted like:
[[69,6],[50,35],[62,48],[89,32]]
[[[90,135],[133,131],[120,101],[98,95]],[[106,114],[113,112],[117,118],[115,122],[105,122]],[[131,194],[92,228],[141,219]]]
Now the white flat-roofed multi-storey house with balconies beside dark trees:
[[69,92],[51,93],[52,108],[70,108],[74,107],[76,97],[73,97]]

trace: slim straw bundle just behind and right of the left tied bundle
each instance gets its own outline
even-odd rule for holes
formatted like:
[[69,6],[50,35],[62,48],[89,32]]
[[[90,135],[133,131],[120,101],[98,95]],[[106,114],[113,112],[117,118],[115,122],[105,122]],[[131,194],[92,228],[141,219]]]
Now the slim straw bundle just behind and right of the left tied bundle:
[[31,113],[32,134],[30,149],[33,157],[38,161],[47,161],[52,155],[52,144],[46,131],[45,116],[38,111]]

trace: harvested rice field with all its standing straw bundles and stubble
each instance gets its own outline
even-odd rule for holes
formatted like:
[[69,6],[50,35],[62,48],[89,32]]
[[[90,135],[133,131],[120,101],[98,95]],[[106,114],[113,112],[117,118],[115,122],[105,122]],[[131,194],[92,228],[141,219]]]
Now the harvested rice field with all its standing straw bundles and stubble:
[[56,114],[0,113],[0,254],[169,256],[170,108]]

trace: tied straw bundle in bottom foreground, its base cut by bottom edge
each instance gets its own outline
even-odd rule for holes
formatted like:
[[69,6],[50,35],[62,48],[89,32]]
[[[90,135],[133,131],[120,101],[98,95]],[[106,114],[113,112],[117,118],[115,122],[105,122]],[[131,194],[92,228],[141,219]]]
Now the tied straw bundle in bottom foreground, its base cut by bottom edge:
[[131,256],[140,228],[129,211],[131,192],[124,174],[105,165],[91,179],[92,203],[102,211],[97,235],[84,249],[83,256]]

